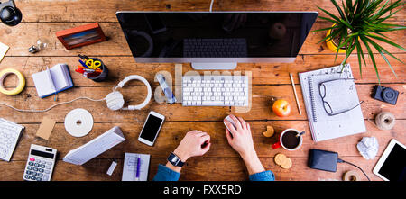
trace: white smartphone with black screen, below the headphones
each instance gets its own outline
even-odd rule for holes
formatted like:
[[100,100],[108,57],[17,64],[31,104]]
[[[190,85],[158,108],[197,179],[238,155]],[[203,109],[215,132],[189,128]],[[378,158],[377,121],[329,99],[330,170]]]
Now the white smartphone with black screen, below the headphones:
[[161,130],[164,120],[165,116],[161,115],[160,113],[150,112],[145,123],[143,124],[143,130],[141,131],[138,140],[148,146],[152,146],[158,137],[158,133]]

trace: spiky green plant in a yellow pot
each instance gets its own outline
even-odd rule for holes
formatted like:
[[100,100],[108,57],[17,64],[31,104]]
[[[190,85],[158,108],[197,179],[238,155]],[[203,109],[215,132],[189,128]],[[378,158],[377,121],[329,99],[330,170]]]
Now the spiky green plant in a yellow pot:
[[[388,50],[383,49],[383,47],[377,42],[385,42],[396,48],[405,50],[403,47],[394,43],[393,41],[390,41],[388,37],[383,35],[383,32],[406,29],[406,26],[403,25],[384,23],[385,20],[392,18],[393,14],[401,11],[401,9],[403,9],[402,5],[405,3],[402,3],[401,0],[394,3],[390,3],[390,0],[385,2],[383,0],[355,0],[354,3],[352,0],[346,0],[342,2],[341,6],[339,6],[336,0],[330,1],[337,8],[338,14],[331,14],[330,12],[318,7],[318,9],[329,16],[318,16],[318,18],[334,23],[328,28],[314,31],[328,31],[327,36],[321,41],[318,41],[318,43],[322,41],[327,42],[328,48],[336,52],[335,61],[338,53],[346,53],[346,58],[341,62],[341,65],[346,63],[346,59],[348,59],[351,53],[356,49],[361,77],[361,59],[363,59],[364,65],[366,66],[364,58],[364,49],[366,49],[366,52],[374,65],[378,81],[381,82],[378,68],[376,67],[374,59],[374,53],[372,51],[372,48],[374,48],[381,54],[396,77],[396,73],[389,63],[389,60],[386,58],[386,55],[391,56],[393,59],[396,59],[401,63],[403,62],[393,56]],[[364,49],[362,46],[364,46]]]

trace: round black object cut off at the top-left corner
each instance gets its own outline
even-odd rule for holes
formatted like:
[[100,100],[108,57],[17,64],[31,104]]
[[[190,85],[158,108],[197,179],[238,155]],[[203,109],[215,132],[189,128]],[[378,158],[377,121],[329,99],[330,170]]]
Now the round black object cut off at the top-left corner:
[[10,0],[5,3],[0,2],[0,20],[2,23],[9,26],[14,26],[21,23],[22,19],[23,14],[21,13],[20,9],[15,6],[14,0]]

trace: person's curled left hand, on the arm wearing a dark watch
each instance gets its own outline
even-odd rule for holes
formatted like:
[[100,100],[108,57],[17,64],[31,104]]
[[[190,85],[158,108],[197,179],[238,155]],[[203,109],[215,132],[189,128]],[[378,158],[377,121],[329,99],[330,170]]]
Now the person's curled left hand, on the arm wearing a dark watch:
[[180,141],[178,148],[173,151],[182,162],[188,158],[203,156],[210,149],[210,135],[203,131],[189,131],[183,140]]

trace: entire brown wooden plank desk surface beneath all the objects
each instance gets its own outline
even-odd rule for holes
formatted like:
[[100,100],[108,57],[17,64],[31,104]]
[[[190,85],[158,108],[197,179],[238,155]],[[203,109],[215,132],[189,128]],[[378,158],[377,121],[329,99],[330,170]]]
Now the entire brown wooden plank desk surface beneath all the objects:
[[[75,84],[73,89],[64,91],[58,95],[60,102],[69,101],[81,95],[93,98],[105,97],[113,86],[124,77],[132,74],[146,77],[152,84],[152,89],[159,86],[153,77],[158,71],[168,71],[174,77],[175,64],[141,64],[136,63],[125,41],[125,37],[115,18],[115,12],[119,10],[154,10],[154,11],[207,11],[209,0],[196,1],[134,1],[134,0],[78,0],[78,1],[17,1],[17,6],[23,12],[23,22],[15,27],[0,24],[0,41],[10,46],[5,59],[0,63],[0,69],[15,68],[23,72],[27,84],[20,95],[0,95],[0,101],[12,104],[22,109],[44,109],[53,102],[53,97],[41,99],[37,96],[32,82],[32,74],[52,67],[57,63],[67,63]],[[297,6],[300,5],[300,6]],[[215,1],[214,11],[250,10],[250,11],[318,11],[316,5],[320,5],[328,11],[335,11],[328,0],[247,0],[247,1]],[[406,10],[395,15],[390,23],[404,24]],[[60,41],[55,37],[55,32],[75,27],[86,23],[100,23],[103,31],[110,38],[109,41],[94,45],[65,50]],[[312,30],[327,27],[329,23],[318,20]],[[309,123],[301,95],[298,72],[309,71],[318,68],[336,66],[334,53],[328,50],[325,43],[317,44],[326,32],[311,32],[305,41],[300,55],[296,61],[290,64],[264,64],[250,63],[239,64],[236,71],[251,71],[253,74],[253,95],[276,96],[288,99],[292,105],[291,116],[279,118],[271,112],[271,104],[266,97],[253,98],[253,107],[249,113],[235,113],[230,107],[182,107],[181,104],[158,104],[150,103],[142,111],[113,112],[106,108],[104,102],[94,103],[87,101],[75,102],[69,105],[61,105],[48,113],[18,113],[1,106],[0,115],[10,121],[18,122],[26,127],[22,139],[14,150],[10,162],[0,161],[3,173],[0,180],[22,180],[23,169],[28,156],[28,150],[32,143],[56,148],[60,154],[52,180],[121,180],[123,158],[125,152],[149,153],[152,155],[149,179],[155,175],[158,164],[165,164],[168,154],[176,148],[187,131],[198,129],[207,131],[212,140],[212,148],[208,153],[199,158],[190,158],[186,167],[182,170],[180,180],[247,180],[248,175],[244,162],[229,147],[226,137],[223,118],[229,113],[242,116],[251,123],[254,136],[254,145],[258,156],[266,169],[271,169],[277,180],[340,180],[347,170],[356,170],[362,180],[366,178],[355,167],[340,164],[336,173],[313,170],[307,167],[309,149],[326,149],[337,151],[340,158],[355,163],[362,167],[372,180],[381,180],[372,173],[374,165],[381,157],[383,150],[391,139],[406,143],[406,107],[405,107],[405,65],[392,58],[392,66],[398,77],[394,77],[391,69],[384,59],[375,51],[375,59],[380,68],[383,86],[391,86],[400,91],[396,106],[384,104],[370,97],[372,88],[377,82],[374,68],[370,59],[367,59],[368,67],[363,68],[363,77],[359,75],[356,55],[353,54],[348,63],[353,68],[356,87],[360,100],[364,101],[362,110],[367,132],[356,134],[335,140],[326,140],[315,143],[309,133]],[[387,35],[401,46],[406,46],[406,31],[390,32]],[[28,48],[39,38],[50,41],[50,49],[30,54]],[[406,53],[388,45],[383,45],[386,50],[396,54],[405,61]],[[110,70],[111,80],[103,83],[95,83],[85,77],[81,77],[73,69],[78,63],[78,53],[97,56],[106,63]],[[368,57],[368,55],[365,55]],[[337,60],[342,60],[338,56]],[[183,73],[191,70],[189,64],[183,64]],[[200,71],[201,73],[201,71]],[[296,89],[299,92],[300,105],[303,114],[298,113],[295,103],[289,73],[293,74]],[[15,78],[7,77],[6,86],[15,86]],[[124,89],[125,99],[132,104],[143,100],[146,88],[138,82],[132,82]],[[85,108],[92,113],[95,124],[93,130],[83,138],[73,138],[64,128],[65,115],[75,108]],[[166,116],[160,136],[154,147],[148,147],[139,141],[137,137],[143,122],[149,111],[163,113]],[[389,111],[396,116],[396,125],[391,131],[380,131],[373,123],[374,116],[382,111]],[[42,140],[35,137],[44,116],[57,121],[51,134],[50,140]],[[78,146],[96,138],[101,133],[113,126],[120,126],[125,133],[125,142],[117,145],[92,159],[84,166],[75,166],[63,162],[61,159]],[[265,138],[262,132],[266,125],[272,125],[276,135]],[[277,140],[279,133],[285,128],[297,128],[307,131],[301,149],[288,152],[283,149],[272,149],[271,144]],[[361,157],[356,149],[356,143],[364,136],[374,136],[379,140],[379,151],[376,158],[366,160]],[[284,153],[292,159],[291,169],[282,169],[275,165],[273,157],[278,153]],[[113,176],[107,176],[106,170],[113,159],[119,164]]]

